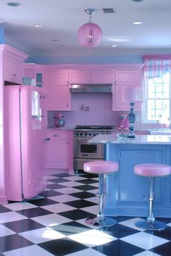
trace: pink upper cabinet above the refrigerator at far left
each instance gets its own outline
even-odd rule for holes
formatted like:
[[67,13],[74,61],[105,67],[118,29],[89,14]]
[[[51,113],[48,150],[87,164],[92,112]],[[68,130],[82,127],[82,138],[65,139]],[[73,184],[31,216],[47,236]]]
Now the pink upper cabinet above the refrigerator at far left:
[[24,74],[24,59],[28,55],[23,54],[10,46],[4,46],[3,74],[4,80],[9,83],[22,84]]

